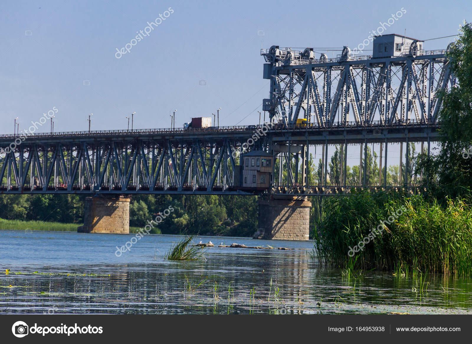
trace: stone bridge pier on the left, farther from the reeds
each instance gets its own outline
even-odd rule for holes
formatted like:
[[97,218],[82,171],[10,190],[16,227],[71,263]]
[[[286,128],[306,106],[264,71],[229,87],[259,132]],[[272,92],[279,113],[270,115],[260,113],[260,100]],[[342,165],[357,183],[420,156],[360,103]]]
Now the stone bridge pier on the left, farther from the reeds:
[[129,233],[129,198],[86,197],[80,233]]

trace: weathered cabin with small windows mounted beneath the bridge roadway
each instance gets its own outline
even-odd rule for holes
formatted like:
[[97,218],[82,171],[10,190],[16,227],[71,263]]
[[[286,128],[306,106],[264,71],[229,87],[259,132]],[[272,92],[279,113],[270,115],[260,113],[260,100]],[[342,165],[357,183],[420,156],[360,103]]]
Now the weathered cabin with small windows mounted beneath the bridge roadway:
[[270,187],[274,157],[265,151],[250,151],[243,157],[242,188],[264,190]]

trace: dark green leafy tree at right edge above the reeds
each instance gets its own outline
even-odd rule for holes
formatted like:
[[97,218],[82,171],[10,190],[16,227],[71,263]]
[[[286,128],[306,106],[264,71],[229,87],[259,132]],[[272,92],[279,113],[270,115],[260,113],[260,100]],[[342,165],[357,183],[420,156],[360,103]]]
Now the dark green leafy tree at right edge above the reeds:
[[423,171],[425,186],[439,199],[470,196],[472,190],[472,156],[463,157],[472,147],[472,25],[464,23],[460,31],[462,35],[447,52],[459,84],[438,93],[442,98],[440,149],[430,159],[421,154],[416,166],[417,173]]

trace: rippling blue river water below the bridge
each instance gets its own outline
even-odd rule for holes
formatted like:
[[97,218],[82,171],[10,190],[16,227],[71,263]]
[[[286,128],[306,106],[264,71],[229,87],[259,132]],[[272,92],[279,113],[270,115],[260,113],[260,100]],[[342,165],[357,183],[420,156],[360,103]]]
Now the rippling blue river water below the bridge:
[[[472,314],[472,279],[363,272],[346,278],[309,258],[313,243],[198,236],[204,260],[169,261],[178,235],[0,230],[0,313]],[[292,250],[219,248],[219,243]],[[6,272],[6,270],[9,270]]]

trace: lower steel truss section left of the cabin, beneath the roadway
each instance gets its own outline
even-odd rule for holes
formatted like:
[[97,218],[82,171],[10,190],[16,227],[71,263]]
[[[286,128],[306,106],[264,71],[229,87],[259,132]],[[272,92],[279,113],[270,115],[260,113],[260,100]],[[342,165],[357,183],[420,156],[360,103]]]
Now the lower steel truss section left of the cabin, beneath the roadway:
[[237,165],[232,156],[244,141],[224,136],[81,143],[59,139],[37,145],[26,140],[0,157],[0,193],[244,194],[233,185]]

